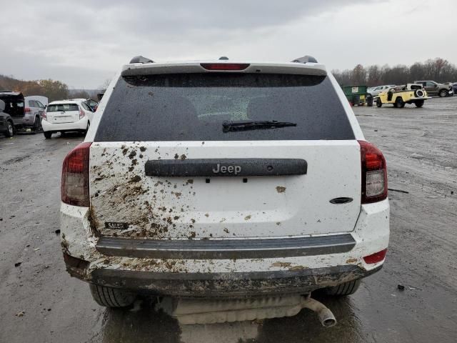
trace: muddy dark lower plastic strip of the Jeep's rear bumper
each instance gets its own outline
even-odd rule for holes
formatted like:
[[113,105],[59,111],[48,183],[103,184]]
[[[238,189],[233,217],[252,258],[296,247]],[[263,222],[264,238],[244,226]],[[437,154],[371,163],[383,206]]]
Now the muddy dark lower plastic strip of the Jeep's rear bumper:
[[381,267],[370,271],[346,265],[298,271],[187,274],[96,269],[91,272],[90,282],[171,297],[307,294],[315,289],[368,277]]

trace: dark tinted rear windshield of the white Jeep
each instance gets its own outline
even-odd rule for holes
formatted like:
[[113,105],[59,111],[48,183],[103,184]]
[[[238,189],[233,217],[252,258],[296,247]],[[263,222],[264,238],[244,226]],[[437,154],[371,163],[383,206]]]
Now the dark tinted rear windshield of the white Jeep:
[[[223,131],[224,123],[296,126]],[[165,74],[120,78],[95,141],[354,139],[327,76]]]

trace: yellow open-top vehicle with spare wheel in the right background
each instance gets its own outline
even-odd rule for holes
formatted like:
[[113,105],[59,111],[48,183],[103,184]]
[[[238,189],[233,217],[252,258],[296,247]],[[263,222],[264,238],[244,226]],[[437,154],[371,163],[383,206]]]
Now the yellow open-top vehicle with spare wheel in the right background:
[[423,103],[431,99],[421,84],[406,84],[405,86],[396,86],[383,91],[376,96],[376,106],[381,107],[383,104],[393,104],[397,109],[401,109],[405,104],[415,104],[416,107],[422,107]]

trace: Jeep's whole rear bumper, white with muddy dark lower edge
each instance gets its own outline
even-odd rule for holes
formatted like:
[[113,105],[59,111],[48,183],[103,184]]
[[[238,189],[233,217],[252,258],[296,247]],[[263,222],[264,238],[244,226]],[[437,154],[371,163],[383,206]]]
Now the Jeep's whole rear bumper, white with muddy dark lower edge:
[[[352,232],[251,239],[257,247],[244,247],[243,239],[235,246],[236,239],[154,242],[97,237],[89,208],[61,204],[64,254],[81,259],[71,265],[66,259],[72,276],[164,296],[305,294],[367,277],[381,269],[383,261],[366,264],[363,257],[388,247],[388,223],[388,200],[384,200],[362,205]],[[295,244],[288,245],[289,239]]]

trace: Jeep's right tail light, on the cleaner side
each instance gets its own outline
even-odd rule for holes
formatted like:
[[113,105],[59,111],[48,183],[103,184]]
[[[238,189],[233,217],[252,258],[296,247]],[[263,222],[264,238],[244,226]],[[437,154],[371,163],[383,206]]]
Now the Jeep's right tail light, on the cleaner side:
[[368,141],[360,144],[362,167],[362,204],[387,198],[387,166],[382,152]]

